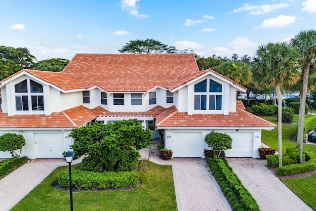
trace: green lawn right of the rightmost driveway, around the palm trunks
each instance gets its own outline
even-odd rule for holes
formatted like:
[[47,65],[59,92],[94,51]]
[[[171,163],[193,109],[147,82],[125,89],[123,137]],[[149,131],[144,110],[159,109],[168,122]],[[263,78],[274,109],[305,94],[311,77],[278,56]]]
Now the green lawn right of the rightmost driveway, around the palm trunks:
[[[310,116],[311,115],[305,115],[305,119],[309,118]],[[275,117],[262,118],[277,125]],[[293,122],[298,122],[297,114],[294,115]],[[282,124],[283,153],[285,153],[286,148],[296,146],[296,143],[290,140],[293,133],[296,132],[297,125]],[[262,130],[262,142],[277,150],[277,127],[272,131]],[[316,153],[316,145],[304,143],[303,150]],[[295,179],[282,179],[282,182],[284,182],[284,184],[286,184],[297,196],[299,196],[313,210],[316,210],[316,175]]]

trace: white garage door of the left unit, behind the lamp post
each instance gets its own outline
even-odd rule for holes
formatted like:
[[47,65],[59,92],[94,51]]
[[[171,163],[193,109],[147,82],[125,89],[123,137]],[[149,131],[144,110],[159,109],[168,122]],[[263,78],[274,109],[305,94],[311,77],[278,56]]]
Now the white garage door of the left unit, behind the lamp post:
[[34,133],[37,158],[62,158],[64,133]]

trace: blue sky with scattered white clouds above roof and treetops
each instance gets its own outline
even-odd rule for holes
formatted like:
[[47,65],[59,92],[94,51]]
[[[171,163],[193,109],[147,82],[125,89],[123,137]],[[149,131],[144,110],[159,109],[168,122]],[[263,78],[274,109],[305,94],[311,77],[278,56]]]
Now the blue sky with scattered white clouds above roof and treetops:
[[0,11],[0,45],[38,61],[118,53],[147,38],[204,57],[253,55],[316,29],[316,0],[0,0]]

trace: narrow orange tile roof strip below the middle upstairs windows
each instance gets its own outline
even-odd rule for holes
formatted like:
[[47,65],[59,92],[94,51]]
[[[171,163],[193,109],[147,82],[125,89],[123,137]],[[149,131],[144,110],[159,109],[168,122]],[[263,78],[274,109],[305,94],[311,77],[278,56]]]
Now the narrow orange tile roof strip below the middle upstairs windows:
[[98,106],[91,109],[96,116],[157,116],[166,109],[161,106],[156,106],[145,112],[109,112],[108,110]]

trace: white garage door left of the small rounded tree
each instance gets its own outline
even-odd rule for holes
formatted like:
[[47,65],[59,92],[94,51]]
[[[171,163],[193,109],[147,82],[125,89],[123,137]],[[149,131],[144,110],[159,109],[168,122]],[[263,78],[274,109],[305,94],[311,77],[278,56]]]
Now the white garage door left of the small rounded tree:
[[201,132],[173,132],[173,157],[201,157]]

